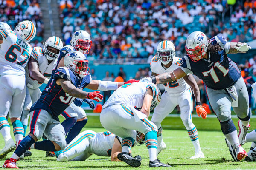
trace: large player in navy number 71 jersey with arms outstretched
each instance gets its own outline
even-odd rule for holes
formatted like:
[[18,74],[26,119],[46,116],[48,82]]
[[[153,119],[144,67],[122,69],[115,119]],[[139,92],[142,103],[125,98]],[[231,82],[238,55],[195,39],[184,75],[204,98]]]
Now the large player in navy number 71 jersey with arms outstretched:
[[[241,71],[227,54],[245,53],[246,43],[227,42],[222,36],[207,40],[200,31],[192,32],[186,40],[187,56],[180,61],[180,67],[172,72],[156,77],[143,78],[141,81],[168,83],[186,74],[195,74],[204,81],[209,102],[218,117],[221,130],[235,161],[247,156],[241,145],[245,142],[250,120],[249,97]],[[239,118],[239,135],[231,119],[231,106]]]

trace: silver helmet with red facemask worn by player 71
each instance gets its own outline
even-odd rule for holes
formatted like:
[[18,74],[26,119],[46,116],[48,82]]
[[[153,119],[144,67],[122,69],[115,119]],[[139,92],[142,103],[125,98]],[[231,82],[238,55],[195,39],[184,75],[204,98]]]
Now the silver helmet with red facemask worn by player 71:
[[195,31],[189,34],[186,40],[186,52],[192,61],[197,62],[202,59],[208,47],[207,36],[201,31]]

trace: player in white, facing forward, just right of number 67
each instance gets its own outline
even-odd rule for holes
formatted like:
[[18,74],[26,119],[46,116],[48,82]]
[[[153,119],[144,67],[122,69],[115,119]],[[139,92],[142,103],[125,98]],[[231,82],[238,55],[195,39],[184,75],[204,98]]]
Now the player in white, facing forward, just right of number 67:
[[26,99],[23,108],[21,122],[24,128],[24,137],[26,136],[26,129],[29,119],[29,110],[33,103],[35,103],[41,91],[39,87],[49,81],[52,70],[57,65],[58,54],[63,47],[63,43],[59,37],[49,37],[44,43],[44,48],[34,47],[29,59],[26,70]]

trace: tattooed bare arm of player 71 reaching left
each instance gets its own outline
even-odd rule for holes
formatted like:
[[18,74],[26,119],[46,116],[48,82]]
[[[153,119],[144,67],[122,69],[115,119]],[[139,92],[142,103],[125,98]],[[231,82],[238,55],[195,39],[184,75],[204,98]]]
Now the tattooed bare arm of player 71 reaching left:
[[176,70],[169,72],[169,73],[163,73],[158,76],[156,76],[156,84],[163,84],[175,81],[176,79],[180,79],[182,77],[186,76],[186,73],[181,70],[180,68],[177,68]]

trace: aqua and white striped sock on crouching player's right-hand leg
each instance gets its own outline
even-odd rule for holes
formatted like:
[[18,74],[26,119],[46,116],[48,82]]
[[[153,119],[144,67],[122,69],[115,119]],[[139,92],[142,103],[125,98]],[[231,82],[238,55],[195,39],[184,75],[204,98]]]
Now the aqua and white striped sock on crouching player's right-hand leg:
[[145,135],[145,143],[148,148],[149,160],[154,161],[157,159],[157,133],[150,131]]

